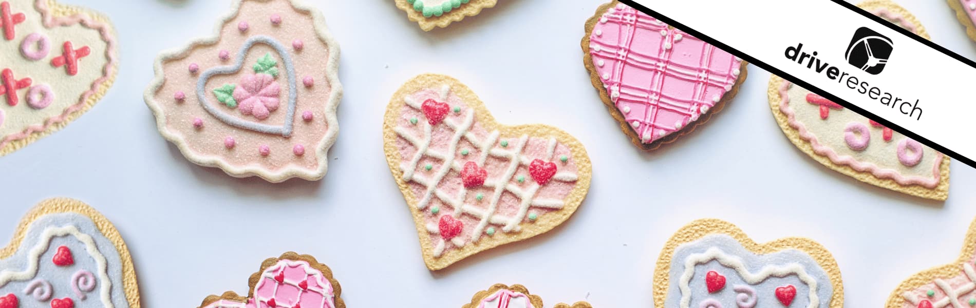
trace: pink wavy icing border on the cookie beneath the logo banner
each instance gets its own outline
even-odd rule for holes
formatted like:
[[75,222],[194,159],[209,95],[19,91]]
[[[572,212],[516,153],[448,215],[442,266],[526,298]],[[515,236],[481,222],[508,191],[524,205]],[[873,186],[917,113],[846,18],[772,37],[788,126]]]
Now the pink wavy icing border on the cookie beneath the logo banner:
[[932,168],[932,178],[924,178],[917,176],[905,176],[894,170],[881,169],[872,163],[859,162],[851,156],[838,155],[830,146],[820,144],[820,142],[817,140],[817,136],[811,134],[806,130],[806,127],[803,126],[802,123],[796,121],[793,109],[790,108],[790,96],[787,93],[787,91],[790,90],[790,85],[791,83],[789,81],[783,81],[783,85],[780,86],[779,93],[782,99],[780,101],[780,111],[787,115],[787,122],[789,122],[790,127],[799,131],[799,135],[801,138],[803,138],[803,140],[810,142],[810,145],[813,146],[813,151],[815,153],[821,156],[827,156],[827,158],[831,159],[834,164],[849,166],[855,171],[862,173],[869,172],[879,178],[890,178],[902,185],[921,185],[926,188],[935,188],[935,186],[939,185],[939,182],[942,180],[940,173],[942,160],[944,159],[942,153],[936,152],[938,154],[937,158],[935,159],[935,166]]

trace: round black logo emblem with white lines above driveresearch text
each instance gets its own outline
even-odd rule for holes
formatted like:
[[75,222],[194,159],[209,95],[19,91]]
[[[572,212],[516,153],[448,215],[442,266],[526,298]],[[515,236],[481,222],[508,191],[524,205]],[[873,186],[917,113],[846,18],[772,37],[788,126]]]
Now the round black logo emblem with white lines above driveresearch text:
[[884,64],[888,62],[893,50],[891,39],[862,26],[854,31],[854,37],[851,38],[851,44],[847,46],[844,58],[851,65],[869,74],[877,75],[884,70]]

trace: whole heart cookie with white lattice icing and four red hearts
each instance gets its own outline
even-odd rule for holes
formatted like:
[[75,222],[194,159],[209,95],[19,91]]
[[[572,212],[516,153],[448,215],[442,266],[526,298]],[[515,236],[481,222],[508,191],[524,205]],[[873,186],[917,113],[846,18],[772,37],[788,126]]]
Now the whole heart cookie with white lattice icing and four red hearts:
[[500,125],[448,76],[404,84],[386,107],[383,135],[431,270],[548,232],[590,189],[590,157],[576,138]]

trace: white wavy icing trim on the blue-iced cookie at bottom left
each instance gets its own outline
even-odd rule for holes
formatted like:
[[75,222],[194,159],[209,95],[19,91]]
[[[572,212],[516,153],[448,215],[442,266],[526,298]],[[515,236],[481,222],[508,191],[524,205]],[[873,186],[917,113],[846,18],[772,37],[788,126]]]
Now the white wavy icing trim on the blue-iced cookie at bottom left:
[[85,250],[88,254],[95,259],[96,267],[98,267],[99,279],[102,280],[102,304],[105,308],[113,308],[115,305],[112,303],[111,299],[111,289],[112,281],[108,279],[108,262],[105,261],[105,256],[99,251],[99,247],[95,245],[95,240],[92,239],[90,235],[81,233],[78,228],[73,225],[66,225],[63,227],[47,227],[41,232],[41,241],[37,242],[32,249],[27,251],[27,269],[22,272],[12,272],[4,270],[0,272],[0,287],[7,285],[10,282],[22,282],[33,279],[37,276],[37,268],[40,262],[41,254],[47,251],[51,246],[51,240],[55,237],[62,236],[73,236],[85,245]]

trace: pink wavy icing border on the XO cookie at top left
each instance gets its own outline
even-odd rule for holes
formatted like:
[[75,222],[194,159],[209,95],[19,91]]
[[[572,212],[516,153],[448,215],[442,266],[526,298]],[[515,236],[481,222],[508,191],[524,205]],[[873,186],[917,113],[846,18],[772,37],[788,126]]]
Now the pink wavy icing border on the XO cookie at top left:
[[84,13],[78,13],[70,17],[60,17],[58,19],[52,19],[50,12],[48,12],[47,2],[48,0],[37,0],[37,2],[34,3],[35,9],[41,13],[41,16],[44,19],[43,22],[44,27],[51,28],[53,26],[69,26],[69,25],[74,25],[76,23],[81,23],[88,28],[98,30],[99,32],[102,33],[102,40],[106,43],[105,56],[108,57],[108,62],[105,63],[104,74],[102,74],[102,77],[96,79],[92,83],[91,90],[86,91],[84,94],[82,94],[81,98],[78,99],[78,103],[65,108],[64,112],[62,112],[61,115],[54,116],[44,120],[45,124],[43,126],[35,124],[35,125],[28,126],[26,129],[23,130],[23,132],[19,134],[7,135],[6,137],[4,137],[3,140],[0,140],[0,148],[3,148],[4,146],[6,146],[8,143],[12,141],[17,141],[26,138],[31,134],[38,133],[38,132],[45,132],[51,126],[64,122],[64,120],[67,117],[71,116],[72,113],[84,108],[86,105],[85,102],[88,101],[88,97],[95,95],[96,91],[98,91],[99,88],[102,86],[102,83],[104,83],[109,79],[108,76],[114,74],[115,67],[117,65],[117,59],[115,58],[115,37],[111,35],[111,28],[109,27],[108,23],[102,23],[98,20],[91,19],[91,17],[89,17],[87,14]]

